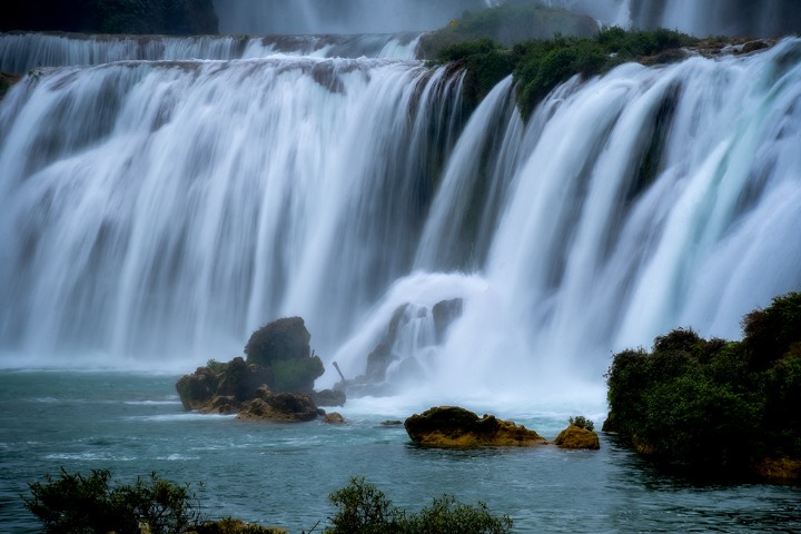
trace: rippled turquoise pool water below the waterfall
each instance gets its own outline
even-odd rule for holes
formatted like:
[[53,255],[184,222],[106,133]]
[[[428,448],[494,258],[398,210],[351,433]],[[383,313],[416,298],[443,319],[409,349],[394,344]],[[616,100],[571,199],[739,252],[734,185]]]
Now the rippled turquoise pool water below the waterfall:
[[[800,532],[801,487],[705,484],[657,471],[602,436],[599,452],[553,447],[438,451],[385,427],[387,404],[345,406],[344,426],[274,425],[186,413],[175,375],[0,372],[0,531],[39,532],[28,483],[60,467],[111,468],[119,481],[156,471],[204,482],[205,513],[291,533],[334,513],[327,495],[364,475],[396,505],[443,493],[508,514],[514,532]],[[378,406],[378,403],[376,403]],[[469,407],[469,406],[467,406]],[[553,438],[561,418],[521,423]],[[500,416],[505,416],[498,413]]]

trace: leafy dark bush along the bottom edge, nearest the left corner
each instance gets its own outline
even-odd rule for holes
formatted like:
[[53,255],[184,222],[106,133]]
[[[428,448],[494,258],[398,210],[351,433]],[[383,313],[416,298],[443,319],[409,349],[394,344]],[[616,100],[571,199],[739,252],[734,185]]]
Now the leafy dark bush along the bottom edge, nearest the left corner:
[[111,472],[95,469],[89,475],[68,473],[46,483],[30,484],[26,507],[47,533],[139,534],[142,524],[152,534],[179,534],[200,514],[189,485],[177,485],[156,473],[132,485],[111,486]]

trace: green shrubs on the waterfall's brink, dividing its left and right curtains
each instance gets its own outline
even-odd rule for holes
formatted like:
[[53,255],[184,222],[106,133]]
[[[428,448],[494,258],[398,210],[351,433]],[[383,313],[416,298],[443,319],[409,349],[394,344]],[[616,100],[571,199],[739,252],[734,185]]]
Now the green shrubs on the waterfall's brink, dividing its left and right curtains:
[[442,49],[436,63],[455,62],[466,71],[465,100],[476,105],[495,85],[513,75],[517,103],[524,118],[557,85],[573,76],[591,78],[629,61],[644,65],[683,59],[684,47],[696,40],[678,31],[626,31],[606,28],[593,37],[555,36],[522,41],[505,48],[488,39]]

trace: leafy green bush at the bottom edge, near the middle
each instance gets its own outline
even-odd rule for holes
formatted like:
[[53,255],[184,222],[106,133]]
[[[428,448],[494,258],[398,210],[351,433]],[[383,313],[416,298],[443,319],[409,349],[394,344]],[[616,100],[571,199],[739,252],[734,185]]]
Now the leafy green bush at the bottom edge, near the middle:
[[434,498],[417,514],[407,514],[364,477],[352,478],[329,498],[338,512],[326,534],[504,534],[512,528],[510,517],[493,516],[484,503],[466,505],[449,495]]

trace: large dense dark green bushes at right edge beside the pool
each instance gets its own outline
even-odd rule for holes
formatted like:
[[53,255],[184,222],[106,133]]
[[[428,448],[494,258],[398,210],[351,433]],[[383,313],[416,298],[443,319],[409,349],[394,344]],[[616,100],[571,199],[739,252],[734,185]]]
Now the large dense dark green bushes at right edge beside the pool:
[[743,320],[742,342],[675,329],[623,350],[606,375],[614,427],[656,455],[744,467],[801,458],[801,294]]

